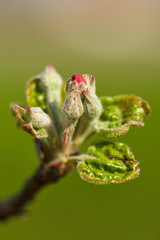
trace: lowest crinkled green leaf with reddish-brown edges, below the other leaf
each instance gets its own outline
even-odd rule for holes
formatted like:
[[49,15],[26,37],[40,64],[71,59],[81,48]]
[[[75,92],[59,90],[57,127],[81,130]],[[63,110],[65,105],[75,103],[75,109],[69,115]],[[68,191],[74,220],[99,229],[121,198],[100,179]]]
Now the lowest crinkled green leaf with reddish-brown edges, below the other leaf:
[[122,183],[138,177],[139,164],[124,143],[101,142],[78,163],[82,179],[95,184]]

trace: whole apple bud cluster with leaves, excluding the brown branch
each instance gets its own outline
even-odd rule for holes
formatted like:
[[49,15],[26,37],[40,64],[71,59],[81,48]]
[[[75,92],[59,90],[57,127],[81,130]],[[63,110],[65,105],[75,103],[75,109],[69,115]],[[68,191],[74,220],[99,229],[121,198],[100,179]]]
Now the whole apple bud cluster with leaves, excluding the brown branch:
[[[44,163],[73,164],[80,176],[96,184],[121,183],[139,175],[130,148],[112,140],[131,126],[143,126],[150,113],[146,101],[135,95],[98,98],[95,77],[75,74],[64,82],[51,65],[26,85],[27,107],[11,104],[18,128],[36,139]],[[74,155],[91,135],[104,141],[86,154]],[[68,165],[67,165],[68,166]]]

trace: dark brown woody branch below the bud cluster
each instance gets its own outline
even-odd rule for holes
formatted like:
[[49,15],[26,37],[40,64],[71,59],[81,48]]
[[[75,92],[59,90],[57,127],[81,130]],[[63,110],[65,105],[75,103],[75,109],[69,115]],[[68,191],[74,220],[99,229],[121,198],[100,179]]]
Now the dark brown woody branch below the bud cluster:
[[73,166],[60,169],[42,165],[18,194],[0,203],[0,221],[4,221],[11,216],[22,215],[25,205],[33,200],[38,191],[49,183],[56,183],[72,168]]

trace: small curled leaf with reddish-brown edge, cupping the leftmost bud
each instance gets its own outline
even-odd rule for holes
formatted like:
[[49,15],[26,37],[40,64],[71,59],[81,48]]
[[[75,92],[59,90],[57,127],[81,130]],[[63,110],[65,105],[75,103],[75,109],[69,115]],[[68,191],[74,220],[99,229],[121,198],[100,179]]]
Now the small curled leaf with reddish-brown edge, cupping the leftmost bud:
[[26,121],[27,110],[21,105],[12,104],[11,111],[16,118],[16,125],[18,128],[24,130],[36,138],[46,138],[48,136],[44,128],[34,127],[32,123]]

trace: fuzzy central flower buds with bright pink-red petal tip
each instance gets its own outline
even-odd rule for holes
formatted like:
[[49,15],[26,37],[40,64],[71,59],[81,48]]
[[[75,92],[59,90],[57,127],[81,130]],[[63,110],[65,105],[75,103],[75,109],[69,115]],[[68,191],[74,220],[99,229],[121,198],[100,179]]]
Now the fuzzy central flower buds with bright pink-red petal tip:
[[67,97],[63,112],[70,118],[79,118],[84,113],[91,119],[102,112],[101,102],[95,93],[95,78],[89,74],[73,75],[67,82]]

